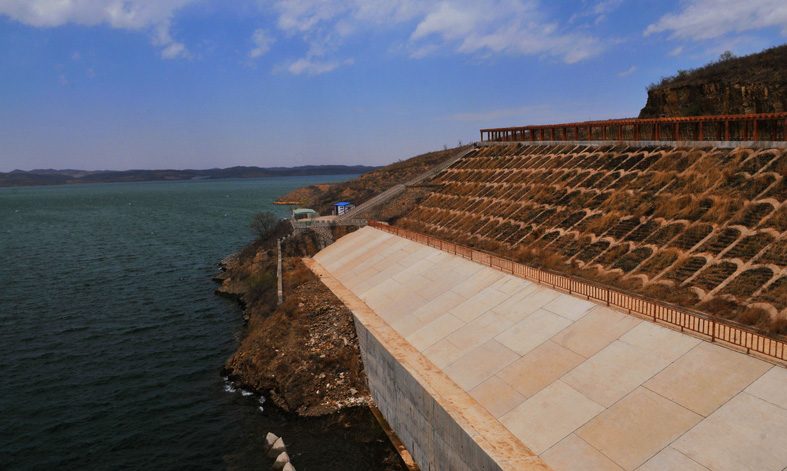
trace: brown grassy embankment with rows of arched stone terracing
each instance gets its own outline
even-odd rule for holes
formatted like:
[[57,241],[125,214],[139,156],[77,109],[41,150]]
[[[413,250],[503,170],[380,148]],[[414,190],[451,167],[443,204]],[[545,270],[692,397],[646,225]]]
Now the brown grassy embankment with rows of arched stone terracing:
[[787,333],[787,150],[491,145],[398,225]]

